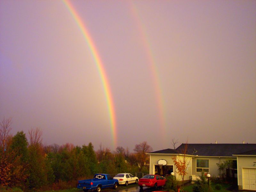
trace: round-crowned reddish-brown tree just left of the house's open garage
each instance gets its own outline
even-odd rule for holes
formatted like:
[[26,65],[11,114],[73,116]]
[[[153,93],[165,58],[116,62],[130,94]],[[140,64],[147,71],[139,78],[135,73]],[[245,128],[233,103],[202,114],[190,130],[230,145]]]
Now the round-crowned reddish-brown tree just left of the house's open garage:
[[145,164],[148,163],[148,156],[146,153],[151,152],[153,149],[150,145],[148,145],[147,141],[143,141],[140,144],[136,144],[133,150],[136,151],[137,162],[141,171]]

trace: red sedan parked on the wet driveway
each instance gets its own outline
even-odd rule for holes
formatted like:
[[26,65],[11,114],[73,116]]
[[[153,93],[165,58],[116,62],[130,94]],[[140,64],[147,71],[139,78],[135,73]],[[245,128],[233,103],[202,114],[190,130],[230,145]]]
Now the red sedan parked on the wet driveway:
[[140,188],[145,187],[154,187],[157,189],[159,186],[164,186],[166,179],[161,175],[145,175],[144,177],[139,179]]

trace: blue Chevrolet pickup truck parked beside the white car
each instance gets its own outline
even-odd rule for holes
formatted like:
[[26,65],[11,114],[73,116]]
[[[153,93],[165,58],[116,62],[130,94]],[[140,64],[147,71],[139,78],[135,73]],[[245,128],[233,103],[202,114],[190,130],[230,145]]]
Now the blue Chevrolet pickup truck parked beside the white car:
[[95,174],[93,179],[79,180],[77,187],[84,191],[95,190],[100,192],[102,188],[117,188],[118,180],[108,174]]

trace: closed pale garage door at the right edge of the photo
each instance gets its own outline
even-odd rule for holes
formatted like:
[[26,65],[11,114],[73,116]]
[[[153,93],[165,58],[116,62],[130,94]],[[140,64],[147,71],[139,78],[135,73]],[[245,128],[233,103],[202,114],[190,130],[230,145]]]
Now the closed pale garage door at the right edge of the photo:
[[256,190],[256,169],[243,168],[243,189]]

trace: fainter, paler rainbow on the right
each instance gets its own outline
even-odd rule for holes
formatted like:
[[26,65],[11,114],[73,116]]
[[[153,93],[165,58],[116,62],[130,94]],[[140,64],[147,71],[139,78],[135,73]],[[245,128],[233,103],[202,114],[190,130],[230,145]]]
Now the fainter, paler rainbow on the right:
[[137,28],[140,33],[140,39],[142,40],[144,50],[146,53],[148,66],[151,72],[151,77],[153,79],[153,85],[155,90],[155,97],[156,97],[156,104],[157,104],[157,111],[158,111],[158,119],[160,124],[160,130],[162,131],[162,138],[166,138],[166,117],[165,117],[165,108],[164,108],[164,99],[163,99],[163,92],[161,88],[160,78],[159,78],[159,72],[157,69],[156,61],[153,56],[152,49],[150,48],[151,45],[149,43],[149,38],[146,33],[146,27],[143,25],[142,20],[140,19],[140,15],[138,13],[138,9],[136,8],[136,5],[133,1],[131,2],[131,12],[132,16],[134,18],[134,21],[136,22]]

